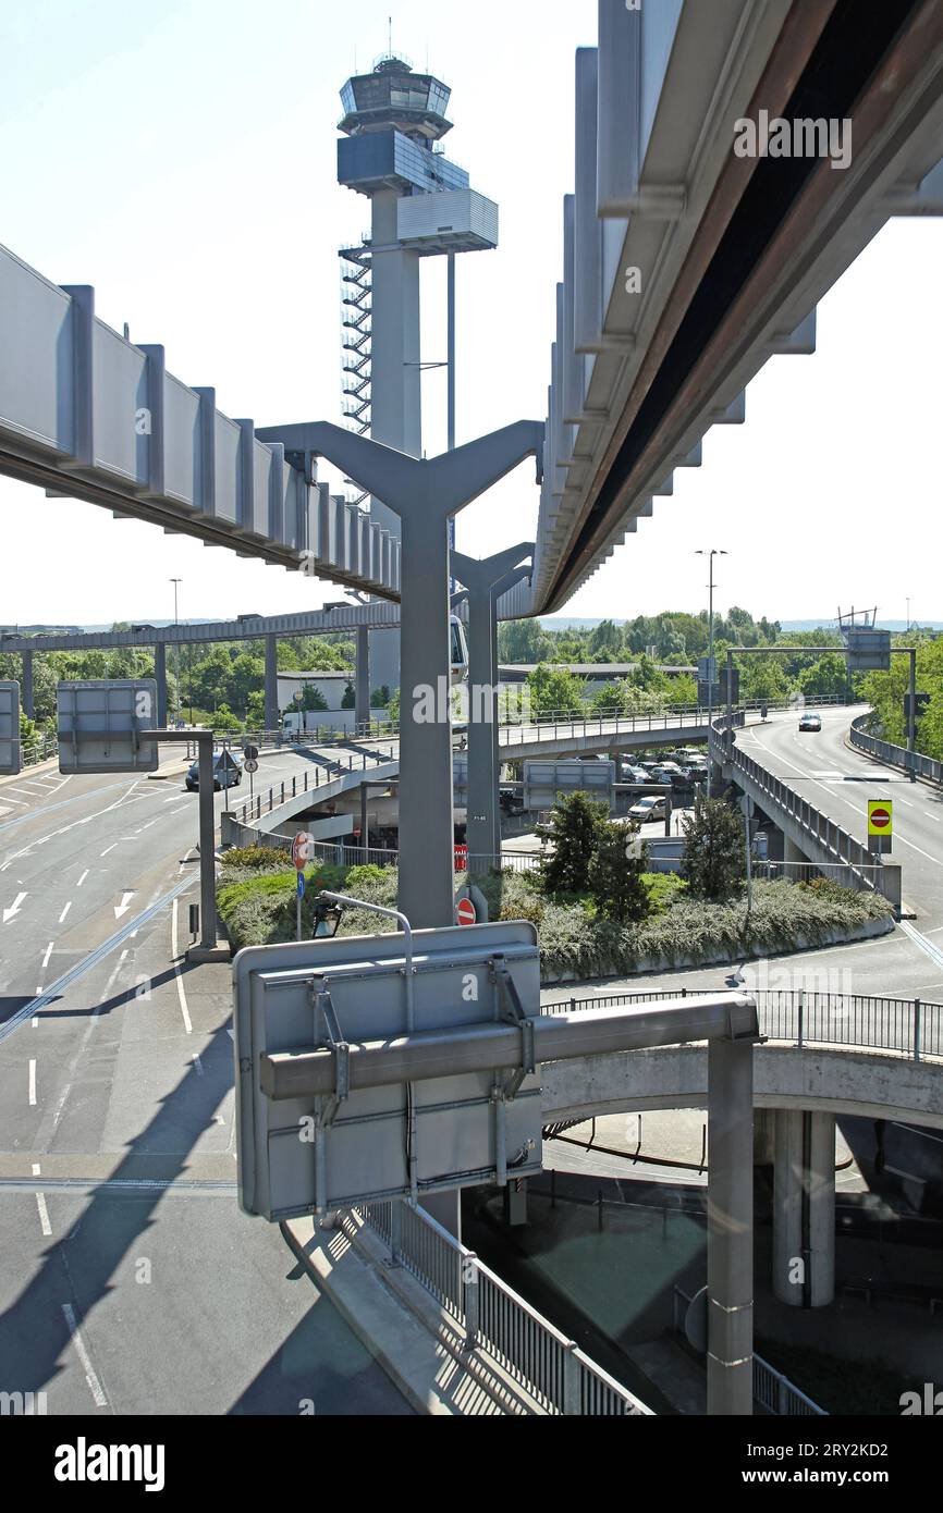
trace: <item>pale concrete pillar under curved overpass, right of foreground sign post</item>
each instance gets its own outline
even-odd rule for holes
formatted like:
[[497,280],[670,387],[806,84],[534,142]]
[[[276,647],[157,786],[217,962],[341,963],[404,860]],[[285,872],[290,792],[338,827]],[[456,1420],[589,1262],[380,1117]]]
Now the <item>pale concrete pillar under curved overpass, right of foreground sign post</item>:
[[836,1117],[776,1109],[773,1292],[796,1309],[836,1295]]

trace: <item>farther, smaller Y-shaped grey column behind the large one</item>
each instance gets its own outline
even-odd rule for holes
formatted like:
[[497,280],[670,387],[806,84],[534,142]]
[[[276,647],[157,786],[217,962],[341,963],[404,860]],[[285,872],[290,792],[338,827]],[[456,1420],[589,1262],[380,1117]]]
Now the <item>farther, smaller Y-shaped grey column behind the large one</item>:
[[[495,681],[496,628],[495,586],[507,578],[524,555],[534,549],[522,542],[483,561],[451,554],[453,573],[468,589],[468,870],[487,871],[500,835],[500,814],[495,812],[496,769],[496,701]],[[500,850],[500,846],[498,846]]]

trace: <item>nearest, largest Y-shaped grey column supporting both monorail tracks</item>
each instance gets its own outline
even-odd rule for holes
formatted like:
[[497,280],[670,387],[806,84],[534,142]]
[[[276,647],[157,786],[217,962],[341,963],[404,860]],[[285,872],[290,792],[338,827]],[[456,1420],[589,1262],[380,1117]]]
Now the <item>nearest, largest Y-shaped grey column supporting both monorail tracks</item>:
[[543,425],[518,421],[428,461],[328,422],[256,434],[327,457],[403,522],[400,909],[413,927],[442,929],[454,923],[448,520],[525,457],[539,469]]

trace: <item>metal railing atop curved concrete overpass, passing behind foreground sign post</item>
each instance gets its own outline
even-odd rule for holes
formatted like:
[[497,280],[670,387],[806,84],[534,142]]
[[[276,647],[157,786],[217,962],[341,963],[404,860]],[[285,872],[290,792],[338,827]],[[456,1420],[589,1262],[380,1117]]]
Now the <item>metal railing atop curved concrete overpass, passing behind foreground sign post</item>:
[[[664,1003],[702,997],[713,988],[664,988],[642,993],[596,993],[592,999],[543,1003],[542,1014],[580,1009],[615,1009],[625,1003]],[[843,1045],[882,1050],[911,1061],[943,1059],[943,1003],[892,999],[870,993],[819,993],[807,988],[751,988],[760,1015],[760,1033],[770,1041],[807,1045]]]

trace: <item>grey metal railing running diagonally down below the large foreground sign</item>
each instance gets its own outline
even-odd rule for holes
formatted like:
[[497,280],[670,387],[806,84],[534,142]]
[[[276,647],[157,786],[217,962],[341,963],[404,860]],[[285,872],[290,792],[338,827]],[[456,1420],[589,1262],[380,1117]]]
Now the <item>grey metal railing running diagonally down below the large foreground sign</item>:
[[431,1215],[409,1203],[356,1210],[465,1333],[545,1413],[651,1416],[627,1387],[586,1356]]

